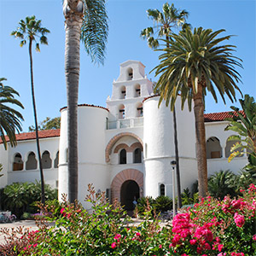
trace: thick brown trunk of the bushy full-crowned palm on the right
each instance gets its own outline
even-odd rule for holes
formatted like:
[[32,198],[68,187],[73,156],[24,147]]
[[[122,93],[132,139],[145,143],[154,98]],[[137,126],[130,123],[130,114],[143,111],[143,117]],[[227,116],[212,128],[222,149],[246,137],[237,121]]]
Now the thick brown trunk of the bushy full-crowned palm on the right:
[[198,190],[199,196],[207,196],[207,143],[204,120],[204,103],[202,101],[202,86],[198,85],[198,92],[194,98],[195,113],[195,140],[196,159],[198,169]]

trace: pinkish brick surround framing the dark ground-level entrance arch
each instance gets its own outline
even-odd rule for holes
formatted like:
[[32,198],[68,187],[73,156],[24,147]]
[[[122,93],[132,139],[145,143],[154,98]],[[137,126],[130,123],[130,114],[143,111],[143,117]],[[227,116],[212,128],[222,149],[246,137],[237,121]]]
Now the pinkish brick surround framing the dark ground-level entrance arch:
[[112,202],[114,199],[120,201],[120,193],[122,184],[127,180],[135,181],[140,188],[140,197],[143,197],[143,172],[136,169],[126,169],[119,172],[111,183],[111,198]]

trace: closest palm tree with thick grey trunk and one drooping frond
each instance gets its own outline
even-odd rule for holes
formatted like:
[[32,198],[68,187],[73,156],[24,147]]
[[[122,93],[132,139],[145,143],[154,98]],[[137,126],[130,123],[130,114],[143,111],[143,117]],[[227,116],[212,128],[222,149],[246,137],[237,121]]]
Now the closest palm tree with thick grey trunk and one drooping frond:
[[93,62],[103,63],[108,37],[105,0],[64,0],[67,84],[68,199],[78,198],[78,96],[80,40]]

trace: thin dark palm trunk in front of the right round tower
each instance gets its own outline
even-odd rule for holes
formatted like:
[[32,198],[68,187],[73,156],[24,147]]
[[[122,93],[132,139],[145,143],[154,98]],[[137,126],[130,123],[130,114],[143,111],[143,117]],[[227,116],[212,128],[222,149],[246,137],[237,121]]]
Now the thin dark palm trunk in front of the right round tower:
[[177,147],[177,119],[176,119],[175,107],[173,108],[173,129],[174,129],[174,147],[175,147],[176,177],[177,177],[177,207],[180,208],[182,207],[182,199],[181,199],[181,184],[180,184],[178,147]]

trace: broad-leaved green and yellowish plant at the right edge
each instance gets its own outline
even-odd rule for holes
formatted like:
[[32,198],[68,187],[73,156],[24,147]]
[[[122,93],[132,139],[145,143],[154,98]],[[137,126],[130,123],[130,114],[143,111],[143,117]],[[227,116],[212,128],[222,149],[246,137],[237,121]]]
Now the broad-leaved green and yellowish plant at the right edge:
[[[230,107],[234,110],[233,117],[228,119],[230,124],[225,128],[226,131],[235,131],[237,135],[231,136],[229,140],[237,141],[231,148],[229,161],[238,155],[248,154],[249,166],[247,169],[256,171],[256,102],[253,96],[245,95],[244,99],[239,100],[239,108]],[[240,150],[237,150],[237,149]]]

